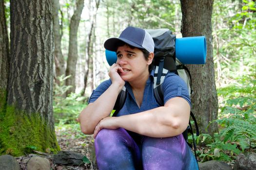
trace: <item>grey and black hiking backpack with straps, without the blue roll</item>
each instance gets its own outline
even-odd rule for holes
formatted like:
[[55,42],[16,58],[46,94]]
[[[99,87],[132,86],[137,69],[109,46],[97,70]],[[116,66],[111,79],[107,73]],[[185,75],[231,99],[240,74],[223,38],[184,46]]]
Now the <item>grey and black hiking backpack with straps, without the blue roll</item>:
[[[154,65],[155,65],[155,74],[154,74],[154,96],[159,105],[163,106],[163,88],[162,83],[164,81],[165,76],[169,72],[174,72],[179,75],[187,84],[189,94],[192,94],[192,79],[188,68],[182,64],[175,55],[175,41],[176,35],[172,34],[169,29],[156,29],[156,30],[146,30],[152,37],[155,43],[155,57],[154,57]],[[187,73],[190,78],[188,78]],[[121,92],[118,94],[117,101],[115,103],[114,109],[116,110],[113,116],[116,116],[120,109],[123,107],[127,96],[127,90],[123,86]],[[194,120],[194,124],[196,126],[196,134],[199,136],[199,130],[197,126],[197,120],[192,112],[190,112],[190,116]],[[182,133],[188,145],[192,148],[192,145],[188,142],[188,133],[192,134],[193,145],[195,156],[196,155],[196,143],[194,139],[194,134],[192,131],[192,125],[189,121],[188,128]]]

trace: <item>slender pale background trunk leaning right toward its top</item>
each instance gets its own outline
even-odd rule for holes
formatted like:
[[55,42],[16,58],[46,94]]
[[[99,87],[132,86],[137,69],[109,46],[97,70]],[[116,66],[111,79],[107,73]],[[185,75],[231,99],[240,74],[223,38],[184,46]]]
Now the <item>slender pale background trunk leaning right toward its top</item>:
[[75,92],[76,90],[76,65],[78,60],[78,26],[80,17],[82,14],[84,0],[78,0],[76,4],[77,8],[74,12],[74,15],[71,17],[70,26],[69,26],[69,48],[68,48],[68,61],[66,76],[71,75],[70,78],[66,80],[66,85],[72,85],[72,87],[67,91],[66,94]]

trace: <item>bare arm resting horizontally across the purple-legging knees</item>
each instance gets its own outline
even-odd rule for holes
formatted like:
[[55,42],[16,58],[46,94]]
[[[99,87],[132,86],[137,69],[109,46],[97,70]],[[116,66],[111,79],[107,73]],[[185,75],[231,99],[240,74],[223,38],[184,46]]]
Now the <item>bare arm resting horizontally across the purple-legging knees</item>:
[[151,137],[177,136],[185,131],[190,117],[190,105],[181,98],[168,100],[164,106],[144,112],[102,119],[95,128],[96,137],[102,128],[126,130]]

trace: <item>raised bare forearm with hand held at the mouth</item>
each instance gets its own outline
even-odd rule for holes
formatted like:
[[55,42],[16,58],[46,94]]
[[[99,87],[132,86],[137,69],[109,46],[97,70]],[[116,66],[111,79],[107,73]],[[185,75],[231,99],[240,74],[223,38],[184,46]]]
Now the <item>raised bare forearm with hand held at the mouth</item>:
[[118,72],[123,72],[119,65],[114,64],[109,70],[109,76],[112,84],[102,93],[95,102],[89,103],[79,115],[81,131],[84,134],[91,135],[98,122],[110,115],[114,108],[118,94],[121,91],[124,81]]

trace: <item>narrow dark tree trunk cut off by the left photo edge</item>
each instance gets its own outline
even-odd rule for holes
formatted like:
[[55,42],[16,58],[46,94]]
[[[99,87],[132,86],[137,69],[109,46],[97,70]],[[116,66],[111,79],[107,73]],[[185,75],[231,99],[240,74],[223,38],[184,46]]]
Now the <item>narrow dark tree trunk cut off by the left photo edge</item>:
[[5,109],[9,71],[9,41],[4,9],[4,0],[0,0],[0,114]]

